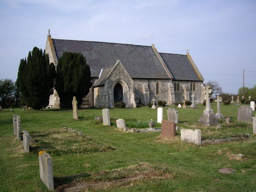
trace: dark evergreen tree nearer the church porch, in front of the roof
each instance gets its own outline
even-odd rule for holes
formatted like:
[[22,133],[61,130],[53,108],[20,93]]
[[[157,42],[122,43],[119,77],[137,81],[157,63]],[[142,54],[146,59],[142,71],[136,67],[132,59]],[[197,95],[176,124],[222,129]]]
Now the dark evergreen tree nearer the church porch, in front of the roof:
[[80,53],[64,52],[58,60],[55,89],[62,107],[71,107],[73,96],[78,105],[92,86],[90,67]]

